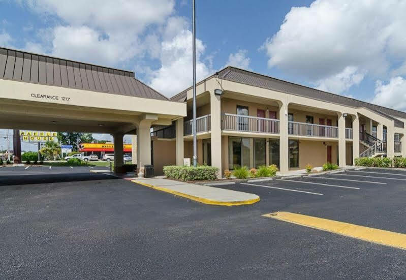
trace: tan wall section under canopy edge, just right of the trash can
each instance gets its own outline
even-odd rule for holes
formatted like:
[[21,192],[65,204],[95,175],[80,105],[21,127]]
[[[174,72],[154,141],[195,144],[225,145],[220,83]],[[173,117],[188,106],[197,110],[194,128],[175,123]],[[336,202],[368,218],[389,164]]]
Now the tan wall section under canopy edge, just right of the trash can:
[[176,165],[175,141],[152,140],[153,145],[153,167],[155,175],[162,175],[163,167]]

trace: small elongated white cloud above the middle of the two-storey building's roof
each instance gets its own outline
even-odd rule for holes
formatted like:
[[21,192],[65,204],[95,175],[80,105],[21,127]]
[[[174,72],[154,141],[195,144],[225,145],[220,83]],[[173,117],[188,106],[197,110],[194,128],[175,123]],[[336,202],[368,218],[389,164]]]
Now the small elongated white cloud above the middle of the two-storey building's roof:
[[342,72],[321,79],[317,81],[315,85],[320,90],[340,93],[346,91],[353,85],[359,85],[364,76],[365,73],[359,72],[357,67],[347,66]]

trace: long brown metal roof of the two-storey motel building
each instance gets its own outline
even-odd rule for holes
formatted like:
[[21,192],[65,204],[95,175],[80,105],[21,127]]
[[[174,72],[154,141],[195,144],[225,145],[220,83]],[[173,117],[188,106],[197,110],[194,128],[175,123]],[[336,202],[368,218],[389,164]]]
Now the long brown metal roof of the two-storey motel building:
[[[404,127],[404,124],[402,121],[393,117],[393,116],[395,116],[395,117],[406,118],[406,113],[402,112],[402,111],[397,111],[394,109],[367,103],[367,102],[360,101],[360,100],[353,99],[353,98],[348,98],[345,96],[331,94],[330,92],[326,92],[326,91],[322,91],[319,89],[287,82],[284,80],[275,79],[275,78],[272,78],[269,76],[265,76],[262,74],[254,73],[251,71],[246,71],[246,70],[231,67],[231,66],[224,68],[220,72],[215,73],[214,75],[206,78],[205,80],[215,77],[215,76],[217,76],[217,74],[218,74],[219,78],[224,79],[224,80],[248,84],[248,85],[262,87],[262,88],[266,88],[266,89],[272,89],[272,90],[276,90],[276,91],[280,91],[280,92],[285,92],[287,94],[327,101],[327,102],[341,104],[341,105],[355,107],[355,108],[365,107],[374,112],[377,112],[380,115],[384,115],[385,117],[393,119],[395,121],[396,127],[399,127],[399,128]],[[198,84],[204,82],[205,80],[199,82]],[[190,88],[185,89],[184,91],[180,92],[179,94],[173,96],[171,98],[171,100],[185,101],[186,100],[186,91],[188,91]]]

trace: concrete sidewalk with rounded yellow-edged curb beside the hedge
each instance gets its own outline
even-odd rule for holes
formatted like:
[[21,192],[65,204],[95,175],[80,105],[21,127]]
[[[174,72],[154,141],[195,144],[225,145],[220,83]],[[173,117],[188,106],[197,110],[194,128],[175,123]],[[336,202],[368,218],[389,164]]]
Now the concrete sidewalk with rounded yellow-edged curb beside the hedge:
[[205,204],[234,206],[254,204],[260,200],[255,194],[214,188],[208,185],[198,185],[179,182],[164,178],[134,179],[132,182],[148,186],[149,188],[189,198]]

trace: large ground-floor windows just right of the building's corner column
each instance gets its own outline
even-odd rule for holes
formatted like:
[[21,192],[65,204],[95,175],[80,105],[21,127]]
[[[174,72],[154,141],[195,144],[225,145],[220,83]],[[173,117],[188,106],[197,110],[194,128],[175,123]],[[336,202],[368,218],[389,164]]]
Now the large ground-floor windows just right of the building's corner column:
[[228,138],[228,168],[266,165],[266,140],[244,137]]

